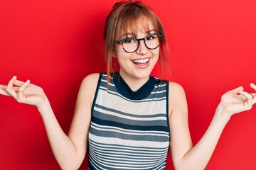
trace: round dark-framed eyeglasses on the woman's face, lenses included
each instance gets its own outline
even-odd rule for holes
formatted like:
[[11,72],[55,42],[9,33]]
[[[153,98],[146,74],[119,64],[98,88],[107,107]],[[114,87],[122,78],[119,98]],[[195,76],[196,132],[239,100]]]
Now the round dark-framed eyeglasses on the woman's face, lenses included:
[[134,38],[134,37],[128,37],[124,38],[123,40],[117,41],[117,44],[122,45],[122,48],[125,52],[132,53],[136,52],[139,48],[139,42],[143,40],[145,46],[149,50],[154,50],[157,47],[159,47],[160,42],[164,38],[164,35],[153,33],[146,35],[145,38]]

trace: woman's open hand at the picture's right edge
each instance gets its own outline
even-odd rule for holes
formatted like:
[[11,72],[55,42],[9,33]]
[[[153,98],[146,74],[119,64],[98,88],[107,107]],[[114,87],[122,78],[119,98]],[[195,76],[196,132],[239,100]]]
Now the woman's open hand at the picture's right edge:
[[[250,84],[251,88],[256,91],[256,85]],[[221,97],[219,109],[222,113],[228,114],[229,116],[240,113],[242,111],[248,111],[256,103],[256,93],[247,93],[243,91],[243,87],[238,87],[223,94]]]

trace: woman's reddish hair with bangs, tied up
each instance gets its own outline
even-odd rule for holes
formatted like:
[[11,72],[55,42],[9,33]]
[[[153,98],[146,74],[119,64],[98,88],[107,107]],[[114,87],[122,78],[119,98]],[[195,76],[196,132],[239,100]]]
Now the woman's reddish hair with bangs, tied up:
[[[107,60],[107,77],[110,81],[110,72],[113,72],[112,53],[116,45],[117,36],[121,31],[132,30],[136,37],[138,29],[149,32],[149,23],[152,24],[156,33],[165,36],[164,27],[156,13],[140,1],[122,1],[114,4],[112,11],[107,16],[104,29],[105,55]],[[160,45],[159,64],[165,65],[169,72],[169,65],[166,60],[167,52],[166,38],[163,38]]]

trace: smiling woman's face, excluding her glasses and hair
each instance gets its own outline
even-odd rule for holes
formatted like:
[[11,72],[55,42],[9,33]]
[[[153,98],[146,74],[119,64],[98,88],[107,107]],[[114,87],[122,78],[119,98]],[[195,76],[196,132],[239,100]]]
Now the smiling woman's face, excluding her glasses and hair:
[[[149,33],[156,33],[151,23],[149,23]],[[137,31],[137,38],[146,38],[149,33],[139,29]],[[132,31],[127,29],[127,32],[121,32],[117,36],[117,40],[123,40],[127,37],[133,37]],[[120,75],[125,81],[132,81],[136,79],[149,79],[152,69],[159,59],[159,47],[154,50],[149,50],[143,40],[139,42],[139,48],[136,52],[128,53],[122,48],[122,45],[115,45],[114,57],[120,66]]]

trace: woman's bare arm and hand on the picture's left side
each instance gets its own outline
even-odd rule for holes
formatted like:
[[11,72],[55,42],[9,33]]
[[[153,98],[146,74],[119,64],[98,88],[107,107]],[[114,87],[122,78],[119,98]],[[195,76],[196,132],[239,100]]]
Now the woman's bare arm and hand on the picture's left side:
[[18,81],[13,77],[7,86],[0,85],[0,94],[13,96],[20,103],[36,106],[43,118],[50,147],[61,169],[78,169],[85,157],[90,111],[98,77],[99,74],[91,74],[82,81],[68,135],[60,128],[41,87],[30,84],[30,81]]

